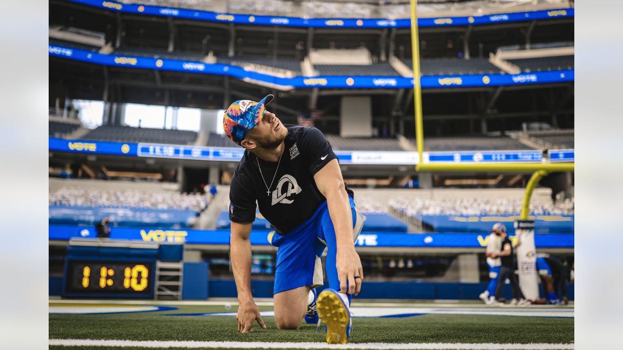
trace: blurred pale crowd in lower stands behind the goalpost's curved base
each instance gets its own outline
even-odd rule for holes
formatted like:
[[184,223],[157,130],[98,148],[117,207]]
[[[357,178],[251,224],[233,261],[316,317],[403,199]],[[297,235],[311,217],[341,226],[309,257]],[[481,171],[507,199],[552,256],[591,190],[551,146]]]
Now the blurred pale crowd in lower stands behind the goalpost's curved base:
[[[406,199],[394,198],[389,207],[415,215],[519,215],[521,199]],[[531,203],[530,215],[573,215],[574,199],[558,204]]]

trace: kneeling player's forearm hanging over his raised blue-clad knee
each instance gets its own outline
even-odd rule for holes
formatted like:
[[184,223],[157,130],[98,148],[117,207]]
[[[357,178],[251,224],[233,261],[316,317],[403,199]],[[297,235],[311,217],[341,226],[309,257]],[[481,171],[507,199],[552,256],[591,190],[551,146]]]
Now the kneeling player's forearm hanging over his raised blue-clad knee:
[[335,228],[335,238],[339,248],[354,248],[353,214],[344,182],[335,184],[326,191],[329,215]]

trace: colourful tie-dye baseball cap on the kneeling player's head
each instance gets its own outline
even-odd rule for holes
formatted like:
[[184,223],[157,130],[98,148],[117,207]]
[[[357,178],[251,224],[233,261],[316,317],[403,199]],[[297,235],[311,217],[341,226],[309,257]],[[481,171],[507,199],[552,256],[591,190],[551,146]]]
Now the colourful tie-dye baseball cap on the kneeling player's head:
[[260,102],[238,100],[227,108],[223,116],[223,130],[225,134],[240,146],[247,130],[254,128],[264,118],[265,106],[272,102],[275,96],[266,95]]

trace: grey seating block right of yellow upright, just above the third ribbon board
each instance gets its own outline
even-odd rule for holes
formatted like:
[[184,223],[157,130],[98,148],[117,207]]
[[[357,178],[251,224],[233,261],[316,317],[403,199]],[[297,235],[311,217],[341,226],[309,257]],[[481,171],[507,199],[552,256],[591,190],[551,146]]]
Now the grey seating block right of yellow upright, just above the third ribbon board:
[[[411,139],[413,143],[415,139]],[[531,149],[507,136],[464,136],[424,138],[426,151],[485,151]]]

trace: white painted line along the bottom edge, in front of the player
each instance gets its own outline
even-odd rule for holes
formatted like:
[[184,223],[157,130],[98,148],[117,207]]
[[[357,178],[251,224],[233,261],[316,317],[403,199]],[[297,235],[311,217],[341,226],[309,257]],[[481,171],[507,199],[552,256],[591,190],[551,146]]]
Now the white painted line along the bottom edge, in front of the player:
[[228,349],[395,349],[395,350],[567,350],[574,344],[496,344],[496,343],[276,343],[251,341],[135,341],[95,339],[49,339],[49,345],[61,346],[136,346],[142,348],[228,348]]

